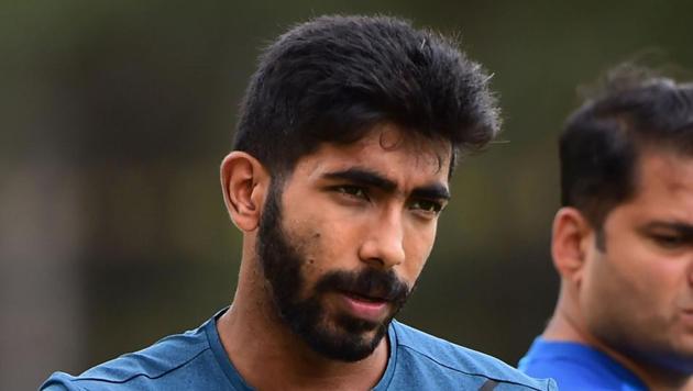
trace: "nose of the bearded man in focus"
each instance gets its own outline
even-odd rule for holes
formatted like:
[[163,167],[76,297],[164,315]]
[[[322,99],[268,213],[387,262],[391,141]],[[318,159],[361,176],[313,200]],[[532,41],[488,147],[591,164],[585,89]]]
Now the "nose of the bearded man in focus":
[[404,225],[398,210],[386,211],[367,227],[359,249],[362,261],[372,267],[389,269],[405,260]]

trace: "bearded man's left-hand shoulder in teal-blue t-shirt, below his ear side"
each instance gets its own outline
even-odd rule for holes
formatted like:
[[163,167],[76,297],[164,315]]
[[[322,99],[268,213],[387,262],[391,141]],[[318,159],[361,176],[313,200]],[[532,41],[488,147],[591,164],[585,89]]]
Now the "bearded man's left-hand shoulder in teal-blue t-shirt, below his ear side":
[[209,349],[207,335],[200,327],[168,336],[145,349],[120,356],[79,376],[55,372],[41,390],[162,389],[158,384],[173,384],[180,372],[209,365]]

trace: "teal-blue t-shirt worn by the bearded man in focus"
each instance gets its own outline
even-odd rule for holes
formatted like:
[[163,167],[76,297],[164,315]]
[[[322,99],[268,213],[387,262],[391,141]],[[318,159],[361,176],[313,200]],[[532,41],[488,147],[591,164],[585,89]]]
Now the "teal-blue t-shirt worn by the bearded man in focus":
[[[87,370],[55,372],[42,390],[252,390],[217,333],[220,312],[199,328]],[[556,390],[491,356],[393,321],[387,369],[374,390]],[[485,384],[485,386],[484,386]],[[495,388],[493,387],[495,386]]]

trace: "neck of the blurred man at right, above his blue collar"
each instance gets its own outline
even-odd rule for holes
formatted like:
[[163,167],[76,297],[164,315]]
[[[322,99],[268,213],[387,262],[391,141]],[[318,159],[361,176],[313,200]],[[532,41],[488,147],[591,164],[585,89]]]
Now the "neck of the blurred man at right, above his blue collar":
[[[580,322],[580,319],[582,319],[582,316],[579,313],[579,306],[576,303],[569,300],[568,295],[564,294],[563,290],[561,290],[553,316],[551,316],[551,320],[541,336],[548,340],[574,342],[601,350],[631,371],[645,384],[647,384],[650,390],[689,389],[685,386],[686,381],[690,380],[690,377],[664,371],[660,368],[656,368],[651,365],[644,364],[629,356],[623,355],[596,336],[592,335],[586,325],[583,322]],[[689,387],[693,387],[693,381],[689,382],[691,383]]]

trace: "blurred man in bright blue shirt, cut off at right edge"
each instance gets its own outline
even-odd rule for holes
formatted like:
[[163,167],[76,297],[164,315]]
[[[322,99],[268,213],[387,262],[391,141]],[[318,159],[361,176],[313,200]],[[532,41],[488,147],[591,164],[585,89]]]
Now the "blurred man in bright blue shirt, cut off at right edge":
[[568,121],[556,312],[520,369],[561,390],[676,390],[693,373],[693,86],[620,67]]

